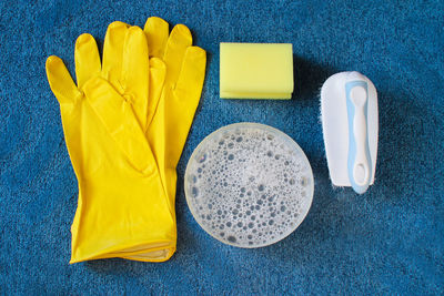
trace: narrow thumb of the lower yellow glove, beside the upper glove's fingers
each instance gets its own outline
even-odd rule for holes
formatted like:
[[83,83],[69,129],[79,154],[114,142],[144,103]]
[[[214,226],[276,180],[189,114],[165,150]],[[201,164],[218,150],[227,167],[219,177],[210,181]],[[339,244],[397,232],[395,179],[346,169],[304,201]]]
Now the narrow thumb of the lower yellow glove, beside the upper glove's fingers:
[[147,127],[151,123],[158,109],[160,95],[165,80],[165,63],[158,58],[150,59],[150,95],[148,101]]

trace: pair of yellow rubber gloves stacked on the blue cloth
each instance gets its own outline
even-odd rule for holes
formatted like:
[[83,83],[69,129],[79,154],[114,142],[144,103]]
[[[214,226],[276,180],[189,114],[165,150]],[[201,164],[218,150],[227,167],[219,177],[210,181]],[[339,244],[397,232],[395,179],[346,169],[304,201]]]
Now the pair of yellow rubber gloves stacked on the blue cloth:
[[47,75],[60,103],[79,183],[70,263],[163,262],[175,252],[175,167],[205,75],[190,30],[149,18],[108,27],[100,61],[90,34],[75,42],[77,85],[58,57]]

